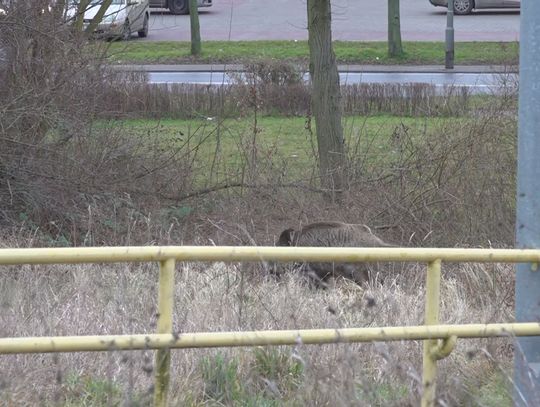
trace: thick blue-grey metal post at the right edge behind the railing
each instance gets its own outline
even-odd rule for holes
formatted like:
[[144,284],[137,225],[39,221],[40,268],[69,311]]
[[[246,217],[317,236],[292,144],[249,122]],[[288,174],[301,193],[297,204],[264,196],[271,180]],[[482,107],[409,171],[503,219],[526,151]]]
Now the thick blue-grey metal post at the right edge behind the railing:
[[[516,247],[540,248],[540,1],[521,2]],[[516,267],[516,322],[540,321],[540,271]],[[540,405],[540,337],[515,351],[515,405]]]

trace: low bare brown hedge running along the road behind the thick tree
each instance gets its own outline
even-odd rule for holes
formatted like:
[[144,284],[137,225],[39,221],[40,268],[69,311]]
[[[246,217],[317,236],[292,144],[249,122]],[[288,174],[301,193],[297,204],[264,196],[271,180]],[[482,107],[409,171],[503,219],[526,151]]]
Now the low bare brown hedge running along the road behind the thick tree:
[[[200,118],[310,114],[309,87],[303,69],[266,61],[230,72],[232,85],[147,84],[109,88],[109,117]],[[474,103],[467,88],[428,84],[356,84],[341,88],[346,115],[381,113],[414,117],[467,115]],[[515,96],[515,95],[514,95]]]

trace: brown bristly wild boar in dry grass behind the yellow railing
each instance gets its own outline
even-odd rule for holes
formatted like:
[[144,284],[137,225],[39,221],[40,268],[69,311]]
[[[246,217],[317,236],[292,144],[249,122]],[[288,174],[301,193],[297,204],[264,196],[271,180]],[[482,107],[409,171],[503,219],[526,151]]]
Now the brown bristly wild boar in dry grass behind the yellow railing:
[[[278,246],[313,247],[390,247],[365,225],[342,222],[316,222],[300,230],[289,228],[279,236]],[[357,284],[369,280],[365,264],[307,263],[301,268],[318,284],[325,285],[330,277],[345,277]]]

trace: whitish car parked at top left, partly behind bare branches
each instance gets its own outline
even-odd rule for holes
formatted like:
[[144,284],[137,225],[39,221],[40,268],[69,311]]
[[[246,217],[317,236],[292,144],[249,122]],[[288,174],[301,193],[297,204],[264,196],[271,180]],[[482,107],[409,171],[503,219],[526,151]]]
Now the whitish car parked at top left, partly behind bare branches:
[[[84,13],[84,27],[98,13],[103,0],[92,0]],[[78,3],[78,2],[77,2]],[[73,9],[76,12],[76,4]],[[148,36],[150,9],[148,0],[112,0],[105,11],[103,19],[97,26],[95,34],[100,37],[121,38],[129,40],[135,32],[139,37]]]

